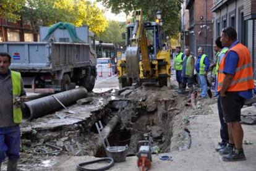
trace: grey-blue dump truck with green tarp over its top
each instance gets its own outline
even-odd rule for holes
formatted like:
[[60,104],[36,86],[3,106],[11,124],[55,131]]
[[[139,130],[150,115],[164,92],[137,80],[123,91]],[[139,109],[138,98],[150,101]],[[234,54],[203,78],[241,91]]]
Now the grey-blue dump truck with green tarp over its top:
[[11,70],[20,72],[25,88],[56,93],[75,86],[92,91],[96,79],[95,38],[88,26],[69,23],[40,27],[40,42],[2,42],[11,55]]

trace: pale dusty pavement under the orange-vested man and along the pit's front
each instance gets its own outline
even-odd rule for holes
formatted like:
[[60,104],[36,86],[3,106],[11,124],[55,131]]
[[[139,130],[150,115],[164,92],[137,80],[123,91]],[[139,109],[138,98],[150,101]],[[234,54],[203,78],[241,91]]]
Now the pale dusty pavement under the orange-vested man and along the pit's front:
[[[244,145],[246,161],[223,162],[215,146],[220,141],[220,123],[217,105],[211,105],[213,111],[210,115],[194,115],[190,119],[189,130],[192,136],[192,146],[186,151],[173,151],[166,155],[172,156],[173,161],[160,161],[159,156],[153,155],[150,170],[223,170],[223,171],[255,171],[256,170],[256,125],[242,125],[244,140],[254,144]],[[255,110],[256,111],[256,110]],[[164,155],[164,154],[160,154]],[[92,160],[93,157],[70,157],[53,170],[75,170],[75,165],[80,162]],[[137,157],[127,157],[126,162],[116,163],[109,170],[134,171],[137,168]]]

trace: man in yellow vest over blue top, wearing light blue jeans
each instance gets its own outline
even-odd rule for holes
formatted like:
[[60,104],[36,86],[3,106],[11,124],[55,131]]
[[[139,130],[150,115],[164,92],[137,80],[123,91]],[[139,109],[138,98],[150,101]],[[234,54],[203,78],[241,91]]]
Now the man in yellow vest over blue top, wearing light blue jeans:
[[208,56],[203,53],[203,48],[198,48],[197,62],[195,63],[195,70],[200,81],[200,86],[202,88],[201,97],[207,98],[207,73],[210,67],[210,62]]

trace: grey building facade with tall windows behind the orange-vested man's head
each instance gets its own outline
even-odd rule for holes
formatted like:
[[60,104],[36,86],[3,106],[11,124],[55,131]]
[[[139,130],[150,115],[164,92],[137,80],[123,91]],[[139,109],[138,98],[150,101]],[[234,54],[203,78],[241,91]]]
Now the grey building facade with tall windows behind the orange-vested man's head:
[[238,40],[247,46],[256,69],[256,0],[215,0],[213,38],[225,27],[236,28]]

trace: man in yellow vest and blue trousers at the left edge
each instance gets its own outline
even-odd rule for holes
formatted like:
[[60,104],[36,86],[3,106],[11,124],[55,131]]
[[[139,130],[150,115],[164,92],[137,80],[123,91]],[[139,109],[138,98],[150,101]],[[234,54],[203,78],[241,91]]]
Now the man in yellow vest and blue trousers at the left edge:
[[20,151],[21,107],[26,93],[20,73],[10,70],[10,65],[11,56],[0,52],[0,170],[7,156],[7,171],[15,171]]

